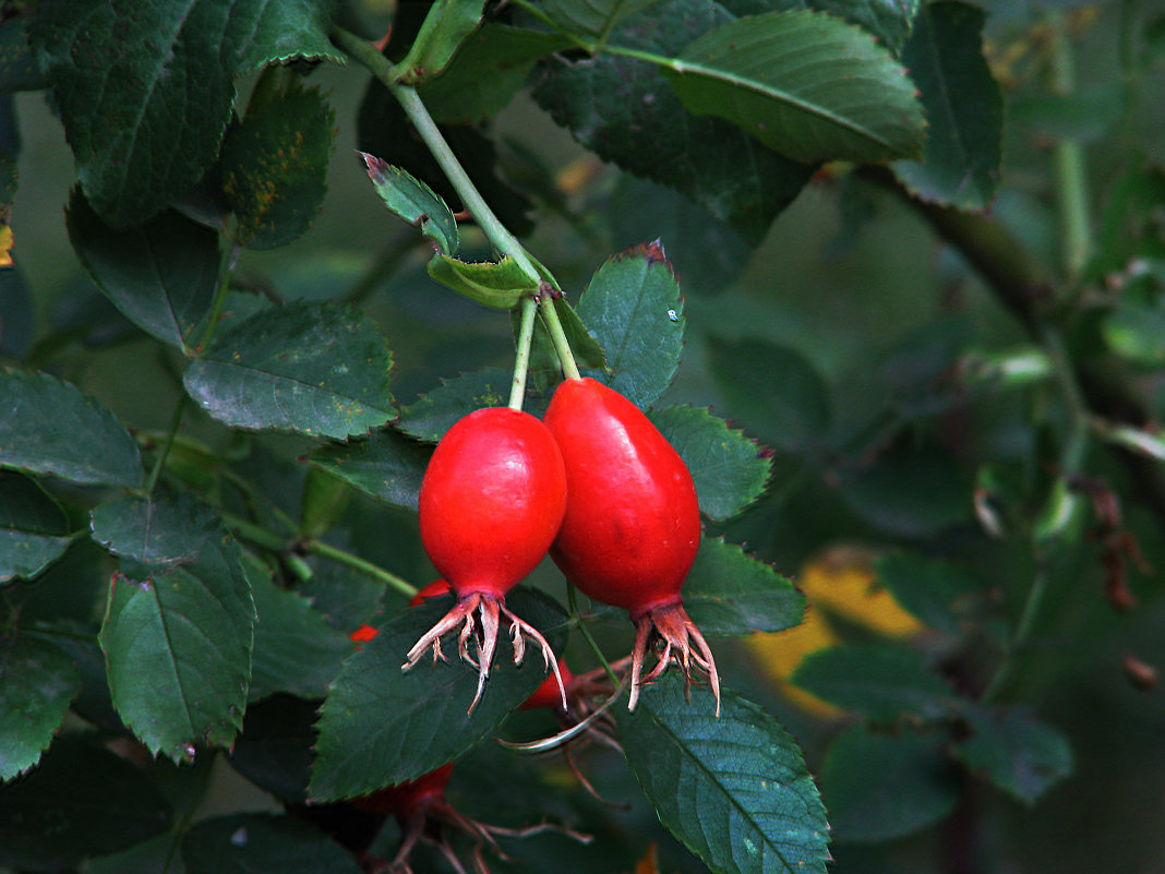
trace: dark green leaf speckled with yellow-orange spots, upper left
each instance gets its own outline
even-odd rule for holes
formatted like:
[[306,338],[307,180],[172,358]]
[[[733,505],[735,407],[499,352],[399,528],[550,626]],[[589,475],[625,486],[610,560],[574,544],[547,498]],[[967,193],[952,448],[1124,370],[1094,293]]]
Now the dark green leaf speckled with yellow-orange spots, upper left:
[[317,89],[268,68],[241,125],[223,141],[223,191],[239,242],[269,249],[291,242],[316,218],[327,191],[336,113]]

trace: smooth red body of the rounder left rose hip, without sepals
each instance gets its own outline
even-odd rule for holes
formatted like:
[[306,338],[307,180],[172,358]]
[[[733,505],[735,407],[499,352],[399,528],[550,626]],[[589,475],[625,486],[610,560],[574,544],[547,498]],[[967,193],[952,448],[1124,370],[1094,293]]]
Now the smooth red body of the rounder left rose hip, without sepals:
[[566,510],[566,472],[529,413],[488,407],[459,420],[421,482],[421,541],[459,597],[501,597],[534,570]]

